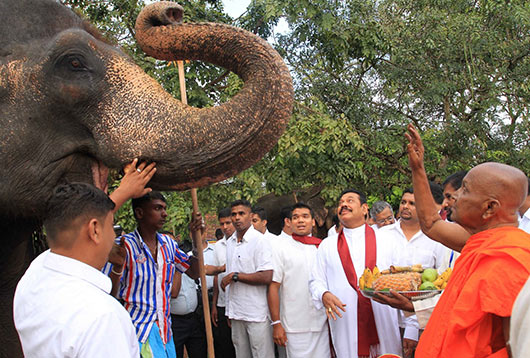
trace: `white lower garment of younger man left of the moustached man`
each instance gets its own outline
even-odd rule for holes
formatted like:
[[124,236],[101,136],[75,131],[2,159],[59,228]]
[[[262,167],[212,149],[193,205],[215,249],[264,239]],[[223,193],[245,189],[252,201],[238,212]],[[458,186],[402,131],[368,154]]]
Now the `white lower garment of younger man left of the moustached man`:
[[320,332],[286,333],[287,358],[328,358],[328,326]]

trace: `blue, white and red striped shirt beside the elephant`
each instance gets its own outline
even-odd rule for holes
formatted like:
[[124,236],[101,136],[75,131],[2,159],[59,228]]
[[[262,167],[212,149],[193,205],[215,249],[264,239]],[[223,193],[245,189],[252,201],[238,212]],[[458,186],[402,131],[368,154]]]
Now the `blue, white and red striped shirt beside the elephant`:
[[[138,230],[124,236],[127,256],[120,281],[119,298],[131,315],[138,341],[145,343],[153,324],[158,321],[162,341],[171,339],[171,286],[175,269],[189,268],[188,256],[169,236],[157,233],[157,262]],[[119,244],[120,238],[116,239]],[[105,273],[112,265],[107,263]]]

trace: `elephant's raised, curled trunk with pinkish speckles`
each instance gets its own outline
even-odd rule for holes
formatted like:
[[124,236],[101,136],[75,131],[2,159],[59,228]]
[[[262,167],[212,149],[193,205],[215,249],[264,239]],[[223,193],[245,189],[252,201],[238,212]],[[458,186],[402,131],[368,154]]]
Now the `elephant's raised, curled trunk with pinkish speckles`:
[[[287,66],[266,41],[229,25],[182,24],[181,18],[182,8],[175,3],[147,6],[136,21],[141,48],[162,60],[202,60],[224,67],[239,75],[244,86],[229,102],[202,109],[186,106],[161,89],[153,97],[157,91],[150,81],[139,86],[145,90],[148,113],[136,109],[137,115],[150,118],[147,127],[137,128],[136,134],[144,136],[131,148],[143,148],[134,155],[157,162],[151,185],[159,189],[200,187],[250,167],[277,142],[293,104]],[[153,101],[159,103],[153,106]],[[156,112],[147,109],[158,107]]]

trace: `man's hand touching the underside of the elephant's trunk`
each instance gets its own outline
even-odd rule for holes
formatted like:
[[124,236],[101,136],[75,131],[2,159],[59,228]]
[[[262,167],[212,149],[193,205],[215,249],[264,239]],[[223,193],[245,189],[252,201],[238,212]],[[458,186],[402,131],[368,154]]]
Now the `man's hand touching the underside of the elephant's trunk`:
[[135,158],[124,167],[123,171],[125,175],[121,179],[120,186],[109,195],[116,204],[114,212],[127,200],[142,197],[152,190],[145,186],[149,183],[153,175],[155,175],[156,163],[153,162],[148,165],[146,162],[142,162],[138,166],[137,164],[138,159]]

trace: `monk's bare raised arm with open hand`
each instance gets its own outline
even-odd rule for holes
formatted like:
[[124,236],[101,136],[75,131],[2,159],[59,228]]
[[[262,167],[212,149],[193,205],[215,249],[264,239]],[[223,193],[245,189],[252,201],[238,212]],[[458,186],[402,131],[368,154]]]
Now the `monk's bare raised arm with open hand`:
[[420,220],[421,230],[431,239],[453,250],[461,251],[471,235],[457,223],[447,222],[440,217],[423,165],[425,148],[423,147],[420,135],[412,124],[408,125],[407,130],[408,133],[405,133],[405,137],[409,141],[407,152],[409,166],[412,170],[414,200],[416,202],[416,212]]

